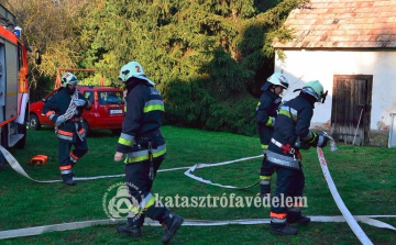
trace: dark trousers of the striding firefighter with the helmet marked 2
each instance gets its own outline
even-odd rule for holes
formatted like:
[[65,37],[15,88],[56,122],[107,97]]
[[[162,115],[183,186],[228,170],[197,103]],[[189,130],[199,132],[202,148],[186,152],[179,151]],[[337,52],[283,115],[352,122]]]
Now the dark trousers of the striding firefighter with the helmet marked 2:
[[[153,159],[154,178],[163,159],[163,157]],[[148,160],[125,164],[125,181],[132,197],[128,225],[142,226],[145,215],[158,221],[161,224],[169,222],[170,211],[151,193],[154,178],[150,178]]]

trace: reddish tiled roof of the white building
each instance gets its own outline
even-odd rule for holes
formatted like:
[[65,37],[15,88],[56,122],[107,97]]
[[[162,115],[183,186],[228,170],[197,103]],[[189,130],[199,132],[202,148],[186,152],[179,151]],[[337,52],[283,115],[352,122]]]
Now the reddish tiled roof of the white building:
[[275,38],[274,47],[396,47],[396,0],[310,0],[290,12],[284,27],[295,38]]

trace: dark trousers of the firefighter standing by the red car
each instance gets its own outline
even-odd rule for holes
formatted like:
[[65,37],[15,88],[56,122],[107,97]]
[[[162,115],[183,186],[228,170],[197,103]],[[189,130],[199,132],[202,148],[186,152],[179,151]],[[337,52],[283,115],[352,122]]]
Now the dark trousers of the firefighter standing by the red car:
[[[75,148],[70,152],[72,146]],[[58,140],[59,169],[63,180],[72,179],[74,176],[73,166],[88,152],[87,140],[76,138],[76,143]]]

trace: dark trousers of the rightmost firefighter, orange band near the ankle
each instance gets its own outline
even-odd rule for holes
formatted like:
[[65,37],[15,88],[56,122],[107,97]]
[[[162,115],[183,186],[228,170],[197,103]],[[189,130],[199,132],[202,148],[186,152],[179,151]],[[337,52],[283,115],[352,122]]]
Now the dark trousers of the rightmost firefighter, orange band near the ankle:
[[[282,229],[286,226],[287,215],[298,219],[301,215],[299,203],[302,196],[305,177],[301,169],[276,167],[276,190],[271,202],[271,226]],[[276,199],[276,200],[274,200]],[[297,202],[296,202],[297,201]],[[299,215],[298,218],[296,215]]]

